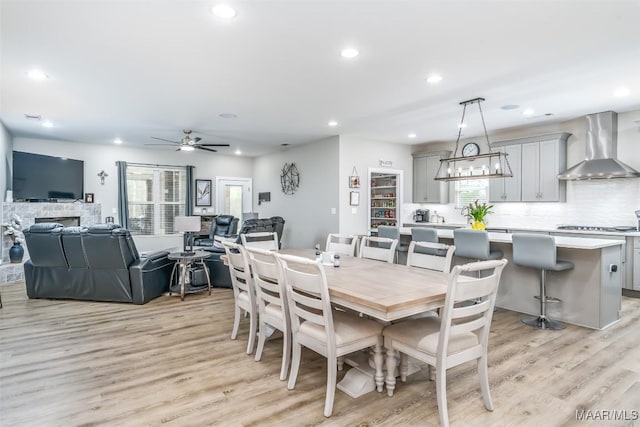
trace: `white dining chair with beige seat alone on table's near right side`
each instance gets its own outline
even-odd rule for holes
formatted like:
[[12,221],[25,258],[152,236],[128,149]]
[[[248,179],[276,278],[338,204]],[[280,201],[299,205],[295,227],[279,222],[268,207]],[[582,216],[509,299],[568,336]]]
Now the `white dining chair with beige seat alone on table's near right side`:
[[[411,319],[384,329],[389,396],[393,395],[396,383],[396,352],[401,353],[400,379],[403,382],[407,378],[407,356],[435,367],[440,424],[448,426],[447,369],[477,360],[484,406],[489,411],[493,410],[487,370],[487,344],[498,284],[506,264],[507,260],[502,259],[453,267],[440,317]],[[486,277],[460,277],[463,272],[477,271],[489,273]],[[457,304],[472,299],[478,299],[479,302],[474,305]]]

